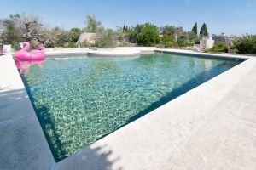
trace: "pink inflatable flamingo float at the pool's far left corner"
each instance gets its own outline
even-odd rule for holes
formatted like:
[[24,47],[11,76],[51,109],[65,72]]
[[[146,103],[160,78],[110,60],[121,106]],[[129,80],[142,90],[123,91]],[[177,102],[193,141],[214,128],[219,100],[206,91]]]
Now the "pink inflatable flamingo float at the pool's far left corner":
[[[26,61],[34,61],[34,60],[43,60],[45,59],[44,50],[34,49],[31,52],[28,52],[27,49],[30,48],[29,42],[22,42],[22,48],[20,51],[15,53],[16,59],[26,60]],[[25,47],[24,47],[25,45]]]

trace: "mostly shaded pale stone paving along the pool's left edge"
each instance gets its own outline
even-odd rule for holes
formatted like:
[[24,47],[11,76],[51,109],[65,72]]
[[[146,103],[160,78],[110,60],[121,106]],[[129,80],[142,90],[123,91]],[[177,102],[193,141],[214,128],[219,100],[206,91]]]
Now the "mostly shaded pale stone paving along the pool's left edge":
[[12,56],[0,56],[0,169],[50,169],[54,163]]

